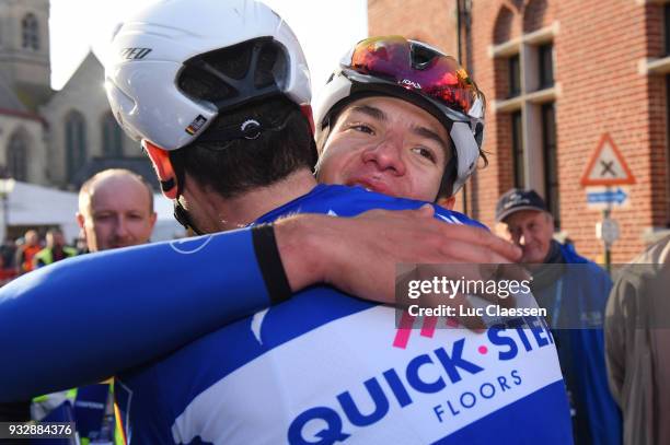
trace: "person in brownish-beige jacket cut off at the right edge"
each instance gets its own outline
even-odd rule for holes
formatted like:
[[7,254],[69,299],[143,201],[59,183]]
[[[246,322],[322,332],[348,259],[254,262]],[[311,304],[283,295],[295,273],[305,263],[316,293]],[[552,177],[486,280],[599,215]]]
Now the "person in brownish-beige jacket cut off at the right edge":
[[670,236],[633,260],[608,301],[605,358],[626,445],[670,443],[669,283]]

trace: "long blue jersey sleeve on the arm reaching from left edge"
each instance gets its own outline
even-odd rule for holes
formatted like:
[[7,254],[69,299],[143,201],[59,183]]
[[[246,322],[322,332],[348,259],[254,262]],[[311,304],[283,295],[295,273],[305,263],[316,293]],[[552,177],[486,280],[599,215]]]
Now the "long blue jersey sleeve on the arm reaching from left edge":
[[0,289],[0,402],[102,380],[267,307],[255,244],[246,229],[73,257],[12,281]]

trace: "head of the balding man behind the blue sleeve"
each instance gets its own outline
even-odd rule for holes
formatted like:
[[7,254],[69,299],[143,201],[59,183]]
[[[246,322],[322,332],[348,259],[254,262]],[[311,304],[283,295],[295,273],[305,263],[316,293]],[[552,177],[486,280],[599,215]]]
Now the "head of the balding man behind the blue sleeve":
[[100,172],[79,191],[77,222],[89,251],[148,243],[155,218],[151,186],[128,169]]

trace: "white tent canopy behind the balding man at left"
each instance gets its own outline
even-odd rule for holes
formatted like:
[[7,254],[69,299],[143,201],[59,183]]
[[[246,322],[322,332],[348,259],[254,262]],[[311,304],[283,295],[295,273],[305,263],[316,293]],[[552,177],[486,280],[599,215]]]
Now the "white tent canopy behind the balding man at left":
[[[7,225],[57,225],[66,239],[71,241],[79,234],[74,219],[78,194],[54,188],[21,183],[14,179],[0,179],[0,239],[4,239]],[[152,239],[170,239],[183,234],[181,225],[174,221],[170,201],[160,195],[154,196],[158,213],[157,227]],[[7,213],[5,213],[7,212]]]

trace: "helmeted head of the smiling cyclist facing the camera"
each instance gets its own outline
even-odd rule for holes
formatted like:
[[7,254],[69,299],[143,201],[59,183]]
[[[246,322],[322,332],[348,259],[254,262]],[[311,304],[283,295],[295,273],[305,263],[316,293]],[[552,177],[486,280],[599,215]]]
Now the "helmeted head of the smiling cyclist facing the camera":
[[478,157],[486,162],[485,102],[473,90],[453,58],[424,43],[359,43],[316,103],[319,179],[453,208]]

